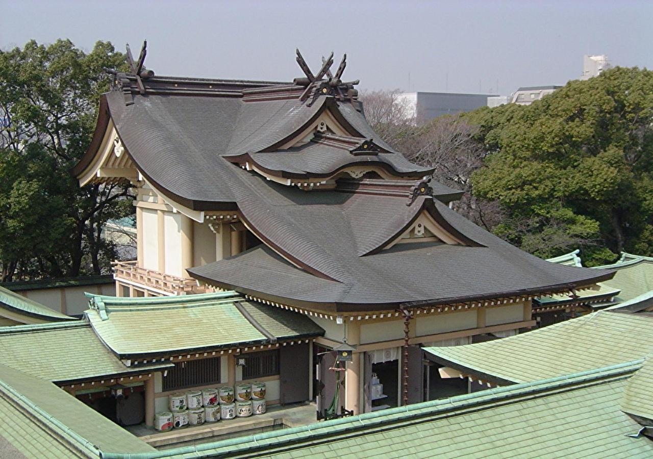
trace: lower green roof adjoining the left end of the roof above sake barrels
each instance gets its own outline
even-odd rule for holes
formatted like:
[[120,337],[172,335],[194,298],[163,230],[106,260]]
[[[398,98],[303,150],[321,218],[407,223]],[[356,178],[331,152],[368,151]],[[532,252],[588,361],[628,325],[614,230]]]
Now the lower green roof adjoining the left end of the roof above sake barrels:
[[150,368],[125,366],[83,321],[0,328],[0,356],[6,366],[57,382],[142,373]]

